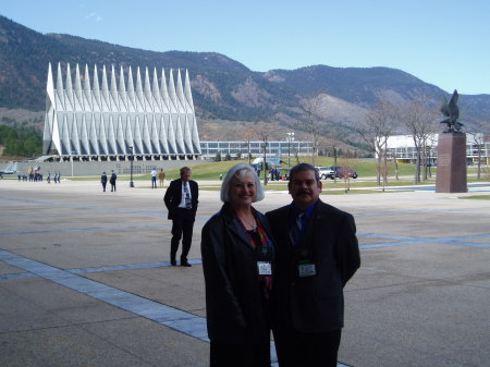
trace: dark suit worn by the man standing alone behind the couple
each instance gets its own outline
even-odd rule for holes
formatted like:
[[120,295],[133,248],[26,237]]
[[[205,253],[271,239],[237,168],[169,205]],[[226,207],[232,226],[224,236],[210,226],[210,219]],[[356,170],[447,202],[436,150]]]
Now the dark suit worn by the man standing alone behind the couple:
[[182,179],[170,182],[163,201],[169,210],[168,218],[172,220],[172,240],[170,245],[170,261],[175,265],[175,256],[179,249],[179,242],[182,238],[181,265],[188,265],[187,255],[191,249],[193,238],[193,228],[196,218],[199,189],[197,182],[189,180],[192,208],[179,208],[182,200]]

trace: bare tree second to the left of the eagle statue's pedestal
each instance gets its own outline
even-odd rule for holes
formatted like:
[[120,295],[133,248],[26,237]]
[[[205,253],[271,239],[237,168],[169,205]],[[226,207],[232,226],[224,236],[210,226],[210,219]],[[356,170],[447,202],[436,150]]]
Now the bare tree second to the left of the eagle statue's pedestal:
[[388,184],[387,145],[393,134],[395,121],[399,119],[397,109],[387,100],[381,100],[377,108],[368,111],[366,121],[357,127],[367,145],[377,156],[377,184]]

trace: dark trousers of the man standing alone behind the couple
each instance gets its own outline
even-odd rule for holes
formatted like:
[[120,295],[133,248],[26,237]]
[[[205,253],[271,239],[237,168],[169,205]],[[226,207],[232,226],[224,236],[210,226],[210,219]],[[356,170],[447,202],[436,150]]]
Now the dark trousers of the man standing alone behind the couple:
[[172,216],[172,240],[170,242],[170,261],[175,261],[179,242],[182,238],[181,264],[187,262],[193,240],[194,215],[192,209],[177,208]]

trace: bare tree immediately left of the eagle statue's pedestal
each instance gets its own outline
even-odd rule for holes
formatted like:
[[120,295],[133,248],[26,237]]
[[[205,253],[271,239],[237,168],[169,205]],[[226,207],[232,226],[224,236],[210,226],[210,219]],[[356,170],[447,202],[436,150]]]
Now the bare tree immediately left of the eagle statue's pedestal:
[[403,110],[403,123],[411,133],[415,145],[415,184],[420,183],[420,164],[426,164],[422,162],[422,157],[426,159],[426,145],[429,135],[436,131],[437,117],[438,111],[428,106],[426,98],[414,99]]

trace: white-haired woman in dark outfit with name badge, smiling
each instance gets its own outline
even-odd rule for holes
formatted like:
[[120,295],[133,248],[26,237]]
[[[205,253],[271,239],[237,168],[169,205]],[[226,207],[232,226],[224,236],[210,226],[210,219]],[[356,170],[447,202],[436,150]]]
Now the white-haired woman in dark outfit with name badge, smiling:
[[252,206],[264,198],[254,169],[236,164],[221,186],[221,210],[203,228],[210,366],[270,366],[269,295],[274,247]]

